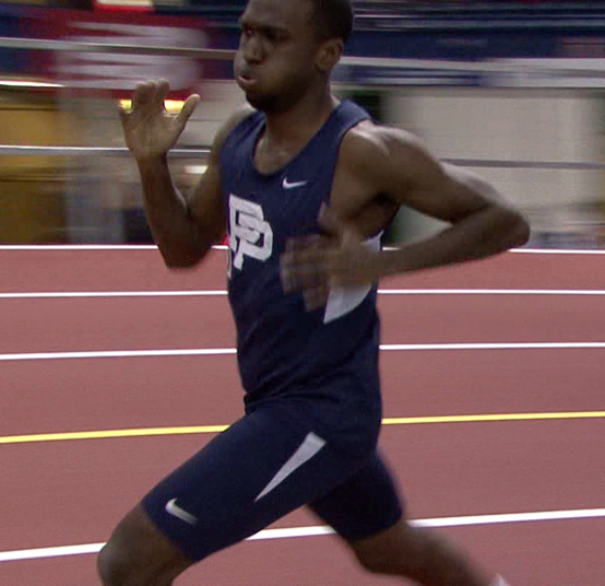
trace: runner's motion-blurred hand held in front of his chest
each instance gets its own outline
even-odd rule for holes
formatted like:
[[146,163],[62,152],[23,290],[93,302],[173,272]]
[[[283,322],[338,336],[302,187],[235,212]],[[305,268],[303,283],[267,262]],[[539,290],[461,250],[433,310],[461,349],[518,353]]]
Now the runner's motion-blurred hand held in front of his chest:
[[281,259],[284,291],[301,291],[309,312],[325,305],[332,286],[368,284],[380,277],[380,254],[368,250],[327,206],[319,224],[324,234],[292,238]]

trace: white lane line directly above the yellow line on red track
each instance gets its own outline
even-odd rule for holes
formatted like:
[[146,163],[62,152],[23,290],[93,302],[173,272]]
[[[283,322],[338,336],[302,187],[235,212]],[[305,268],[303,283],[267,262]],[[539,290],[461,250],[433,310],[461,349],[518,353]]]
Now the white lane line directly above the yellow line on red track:
[[[380,350],[384,352],[434,350],[566,350],[600,348],[605,348],[605,342],[473,342],[380,345]],[[25,360],[132,359],[153,356],[221,356],[236,353],[237,350],[235,348],[192,348],[175,350],[100,350],[90,352],[27,352],[0,354],[0,362]]]

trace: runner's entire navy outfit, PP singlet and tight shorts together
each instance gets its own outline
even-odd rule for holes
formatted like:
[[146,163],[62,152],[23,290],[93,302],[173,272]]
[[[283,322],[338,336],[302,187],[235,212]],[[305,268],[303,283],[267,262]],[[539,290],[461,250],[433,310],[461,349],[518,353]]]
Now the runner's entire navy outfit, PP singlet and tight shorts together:
[[377,453],[376,286],[333,290],[325,307],[306,312],[301,295],[286,295],[280,280],[287,239],[318,233],[342,138],[366,118],[355,104],[341,104],[306,148],[271,175],[252,163],[264,126],[260,113],[236,126],[220,153],[246,415],[142,502],[154,525],[192,561],[302,505],[349,541],[377,535],[402,516]]

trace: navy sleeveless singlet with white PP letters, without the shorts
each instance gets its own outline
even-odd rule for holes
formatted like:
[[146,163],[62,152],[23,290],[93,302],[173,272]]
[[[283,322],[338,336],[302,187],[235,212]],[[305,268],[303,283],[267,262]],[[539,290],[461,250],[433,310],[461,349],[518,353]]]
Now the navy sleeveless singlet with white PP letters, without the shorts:
[[[364,348],[368,358],[377,351],[376,286],[333,290],[325,307],[307,312],[301,294],[285,294],[280,280],[287,239],[319,233],[344,134],[368,118],[353,102],[341,103],[302,151],[269,175],[253,164],[262,113],[240,121],[223,143],[228,295],[249,402],[308,386],[354,355],[359,360]],[[370,244],[378,246],[378,238]]]

